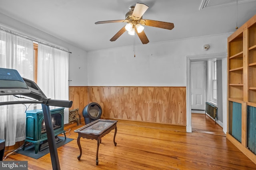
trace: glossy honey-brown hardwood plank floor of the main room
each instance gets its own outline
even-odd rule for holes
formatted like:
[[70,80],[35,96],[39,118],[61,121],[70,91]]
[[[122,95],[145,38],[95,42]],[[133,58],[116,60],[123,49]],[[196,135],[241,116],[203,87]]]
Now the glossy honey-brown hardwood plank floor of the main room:
[[[195,121],[193,123],[196,125]],[[82,156],[80,161],[77,159],[79,149],[74,130],[81,126],[72,127],[68,137],[74,140],[58,148],[62,170],[256,169],[256,165],[224,135],[150,128],[138,122],[126,123],[121,120],[117,123],[117,146],[113,143],[113,130],[102,138],[99,164],[96,166],[95,140],[81,138]],[[39,159],[14,154],[6,160],[27,160],[28,170],[52,169],[50,154]]]

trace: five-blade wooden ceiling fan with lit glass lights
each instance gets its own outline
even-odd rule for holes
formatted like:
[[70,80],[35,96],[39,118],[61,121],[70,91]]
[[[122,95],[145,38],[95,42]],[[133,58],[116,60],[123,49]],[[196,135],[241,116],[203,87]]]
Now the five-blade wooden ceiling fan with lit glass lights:
[[147,44],[149,43],[149,40],[145,32],[143,31],[144,27],[142,25],[170,30],[174,28],[174,24],[170,22],[142,19],[142,15],[146,12],[147,9],[148,6],[146,6],[145,4],[137,3],[136,5],[130,6],[129,12],[127,12],[125,15],[125,20],[98,21],[95,24],[127,22],[127,24],[124,27],[122,27],[110,39],[110,41],[116,41],[116,39],[118,39],[118,37],[120,37],[127,30],[130,35],[134,35],[136,32],[142,44]]

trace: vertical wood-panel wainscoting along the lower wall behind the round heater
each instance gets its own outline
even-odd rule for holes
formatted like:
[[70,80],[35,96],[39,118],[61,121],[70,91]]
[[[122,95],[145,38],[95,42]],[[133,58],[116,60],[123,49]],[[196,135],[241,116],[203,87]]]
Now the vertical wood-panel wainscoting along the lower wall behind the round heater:
[[71,86],[70,100],[79,108],[90,102],[102,117],[186,126],[186,87]]

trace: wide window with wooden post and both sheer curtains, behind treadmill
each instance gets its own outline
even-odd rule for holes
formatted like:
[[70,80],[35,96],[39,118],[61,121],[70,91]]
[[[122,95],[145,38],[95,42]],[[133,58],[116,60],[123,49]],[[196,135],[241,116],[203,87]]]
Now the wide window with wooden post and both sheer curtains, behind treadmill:
[[[47,56],[52,57],[46,62]],[[68,52],[0,29],[0,67],[18,70],[22,77],[34,80],[48,98],[68,100]],[[16,100],[12,95],[0,96],[0,102]],[[6,146],[25,139],[24,111],[29,106],[0,106],[0,138],[6,139]],[[64,123],[68,123],[68,108],[64,109]]]

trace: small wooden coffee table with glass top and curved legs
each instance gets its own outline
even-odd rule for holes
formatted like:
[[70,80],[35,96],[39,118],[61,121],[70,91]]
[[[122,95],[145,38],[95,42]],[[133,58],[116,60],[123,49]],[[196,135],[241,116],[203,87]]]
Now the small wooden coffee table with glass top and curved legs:
[[77,137],[77,145],[80,149],[80,155],[77,156],[78,160],[80,160],[82,155],[82,147],[80,144],[80,138],[86,138],[86,139],[95,139],[97,140],[97,152],[96,152],[96,165],[98,165],[98,151],[99,146],[101,143],[101,138],[104,137],[106,134],[110,133],[113,129],[115,129],[114,134],[114,145],[116,146],[115,138],[116,138],[116,120],[106,120],[106,119],[97,119],[96,121],[93,121],[83,127],[80,127],[79,129],[76,129],[74,132],[78,133]]

